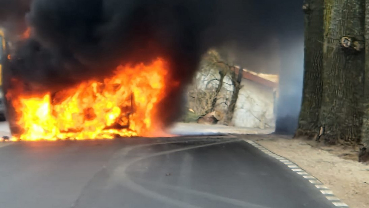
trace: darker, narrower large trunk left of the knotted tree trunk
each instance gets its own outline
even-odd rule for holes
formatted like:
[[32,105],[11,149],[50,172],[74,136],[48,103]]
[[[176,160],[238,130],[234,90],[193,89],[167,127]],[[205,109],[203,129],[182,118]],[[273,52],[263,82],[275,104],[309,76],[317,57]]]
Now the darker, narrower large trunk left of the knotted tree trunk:
[[295,136],[315,136],[319,132],[322,93],[324,0],[305,0],[304,86],[299,126]]

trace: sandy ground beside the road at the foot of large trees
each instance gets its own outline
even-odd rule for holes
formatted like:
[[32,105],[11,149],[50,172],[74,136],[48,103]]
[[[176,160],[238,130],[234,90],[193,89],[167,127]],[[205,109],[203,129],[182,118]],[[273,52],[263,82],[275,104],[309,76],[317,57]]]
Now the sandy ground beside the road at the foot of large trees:
[[355,161],[356,150],[281,137],[256,135],[252,139],[318,178],[350,208],[369,207],[369,165]]

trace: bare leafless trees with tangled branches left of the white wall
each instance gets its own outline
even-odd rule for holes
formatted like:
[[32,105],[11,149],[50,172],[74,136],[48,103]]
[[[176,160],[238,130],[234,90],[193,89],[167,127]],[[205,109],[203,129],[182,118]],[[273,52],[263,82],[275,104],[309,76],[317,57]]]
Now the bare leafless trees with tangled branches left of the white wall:
[[[207,79],[203,80],[204,77]],[[230,83],[226,82],[226,78]],[[222,59],[217,50],[209,50],[203,56],[194,84],[189,88],[189,100],[193,100],[190,104],[191,109],[204,115],[214,112],[220,105],[225,105],[224,124],[229,125],[242,87],[241,80],[241,67],[235,67],[234,64]],[[199,83],[202,86],[199,86]],[[227,93],[221,93],[222,90]]]

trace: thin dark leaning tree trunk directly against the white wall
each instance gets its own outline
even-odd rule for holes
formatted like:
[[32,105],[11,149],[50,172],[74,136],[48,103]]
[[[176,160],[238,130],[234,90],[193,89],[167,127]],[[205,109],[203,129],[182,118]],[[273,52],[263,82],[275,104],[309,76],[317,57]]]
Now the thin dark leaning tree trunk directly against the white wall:
[[231,70],[231,80],[232,80],[232,84],[233,84],[233,92],[232,92],[232,97],[231,97],[231,102],[230,105],[228,105],[228,111],[227,111],[227,118],[225,119],[225,124],[226,125],[230,125],[230,123],[232,122],[232,118],[233,118],[233,114],[234,114],[234,109],[236,107],[236,103],[237,103],[237,99],[238,99],[238,93],[239,90],[241,89],[241,81],[242,81],[242,75],[243,75],[243,68],[239,67],[238,72],[236,73],[236,68],[233,67],[233,70]]

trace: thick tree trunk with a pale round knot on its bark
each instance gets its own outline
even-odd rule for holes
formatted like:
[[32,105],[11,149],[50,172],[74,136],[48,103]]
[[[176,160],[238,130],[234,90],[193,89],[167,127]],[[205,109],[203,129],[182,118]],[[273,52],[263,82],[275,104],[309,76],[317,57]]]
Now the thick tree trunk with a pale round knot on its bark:
[[356,144],[362,126],[365,0],[324,1],[323,93],[325,143]]

